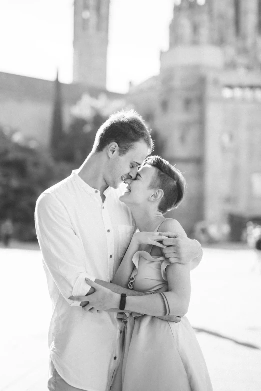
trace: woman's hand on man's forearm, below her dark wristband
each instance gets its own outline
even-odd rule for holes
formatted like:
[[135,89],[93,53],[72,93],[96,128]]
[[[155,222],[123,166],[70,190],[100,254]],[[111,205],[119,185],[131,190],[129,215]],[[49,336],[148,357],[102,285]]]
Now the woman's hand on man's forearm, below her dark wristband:
[[[104,286],[101,286],[88,278],[85,278],[85,281],[88,285],[92,286],[95,289],[95,292],[87,296],[87,300],[89,303],[82,307],[84,311],[100,313],[108,309],[119,308],[119,294],[114,293],[107,288],[104,288]],[[86,296],[71,296],[69,297],[69,299],[73,301],[86,302]]]

